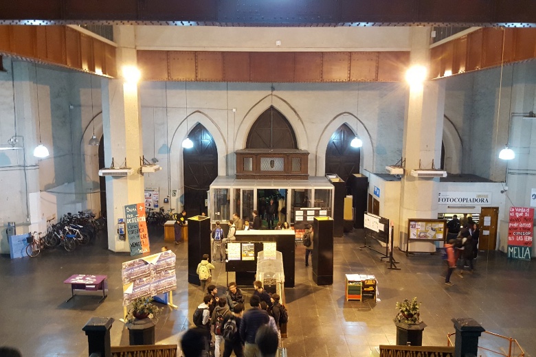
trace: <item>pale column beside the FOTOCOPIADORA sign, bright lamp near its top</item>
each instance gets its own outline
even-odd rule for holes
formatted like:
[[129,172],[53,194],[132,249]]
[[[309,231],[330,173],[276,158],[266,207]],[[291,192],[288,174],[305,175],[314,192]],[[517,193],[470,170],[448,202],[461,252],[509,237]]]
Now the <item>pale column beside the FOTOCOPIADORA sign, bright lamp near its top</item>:
[[[429,67],[429,27],[412,27],[410,65]],[[403,241],[407,239],[408,218],[437,218],[439,179],[418,179],[410,171],[419,168],[440,168],[445,81],[412,84],[404,118],[403,159],[405,174],[401,182],[400,227]],[[432,244],[426,244],[432,250]],[[405,248],[405,247],[404,247]],[[420,249],[420,248],[419,248]],[[425,248],[426,249],[426,248]]]

